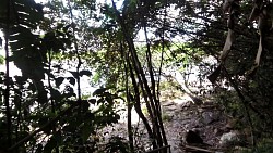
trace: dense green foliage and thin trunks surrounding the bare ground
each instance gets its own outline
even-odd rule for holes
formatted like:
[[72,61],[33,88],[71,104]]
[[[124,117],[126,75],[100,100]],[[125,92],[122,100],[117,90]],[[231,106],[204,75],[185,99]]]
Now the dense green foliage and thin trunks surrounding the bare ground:
[[[195,65],[199,89],[206,90],[206,77],[221,64],[213,97],[227,114],[241,118],[238,128],[250,127],[258,141],[272,138],[272,3],[264,2],[266,14],[254,16],[265,18],[258,27],[249,21],[249,1],[236,3],[235,13],[222,5],[219,0],[2,0],[0,47],[5,58],[0,62],[7,67],[0,73],[0,152],[149,150],[133,141],[132,107],[151,149],[167,145],[161,89],[173,86],[166,85],[171,71],[186,79]],[[233,27],[226,25],[230,15]],[[235,40],[223,62],[229,29]],[[253,65],[260,38],[263,52]],[[10,75],[11,62],[22,75]],[[84,77],[90,82],[82,82]],[[98,89],[91,94],[83,84]],[[118,123],[119,103],[127,105],[129,136],[105,140],[98,131]]]

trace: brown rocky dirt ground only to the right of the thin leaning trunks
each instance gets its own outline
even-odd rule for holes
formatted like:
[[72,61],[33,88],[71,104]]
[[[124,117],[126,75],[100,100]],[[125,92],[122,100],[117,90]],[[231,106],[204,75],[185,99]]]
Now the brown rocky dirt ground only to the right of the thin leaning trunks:
[[171,153],[182,153],[187,131],[198,131],[205,143],[218,146],[225,119],[214,103],[193,104],[188,98],[175,99],[163,104],[163,118]]

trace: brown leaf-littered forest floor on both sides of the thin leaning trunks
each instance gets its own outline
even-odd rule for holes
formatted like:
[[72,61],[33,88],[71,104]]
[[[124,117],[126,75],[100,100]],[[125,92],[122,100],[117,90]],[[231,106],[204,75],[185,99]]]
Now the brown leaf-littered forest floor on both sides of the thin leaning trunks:
[[[162,117],[168,144],[171,153],[183,153],[186,135],[189,130],[197,131],[203,139],[203,142],[211,145],[211,148],[219,148],[219,138],[224,132],[227,132],[226,118],[223,111],[217,106],[213,100],[204,101],[203,104],[197,105],[187,94],[176,94],[173,97],[164,95],[162,98]],[[127,112],[123,112],[126,114]],[[138,122],[138,114],[132,112],[132,119],[134,128],[138,129],[135,133],[135,143],[147,149],[150,143],[144,126]],[[111,128],[104,129],[109,135],[105,137],[118,136],[127,138],[127,123],[116,124]],[[107,139],[107,138],[106,138]]]

